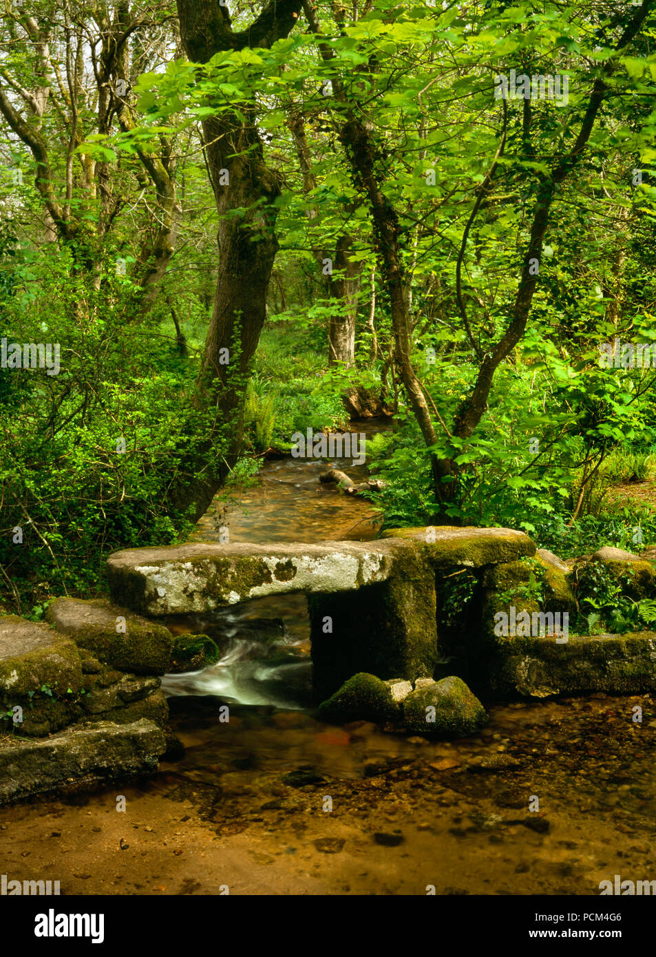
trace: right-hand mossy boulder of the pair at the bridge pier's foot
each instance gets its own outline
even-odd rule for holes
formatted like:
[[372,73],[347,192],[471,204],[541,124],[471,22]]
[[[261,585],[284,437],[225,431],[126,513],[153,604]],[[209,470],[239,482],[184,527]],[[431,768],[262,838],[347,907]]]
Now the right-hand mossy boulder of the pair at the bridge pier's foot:
[[488,723],[488,715],[465,682],[450,676],[407,695],[404,723],[416,734],[461,738],[477,734]]

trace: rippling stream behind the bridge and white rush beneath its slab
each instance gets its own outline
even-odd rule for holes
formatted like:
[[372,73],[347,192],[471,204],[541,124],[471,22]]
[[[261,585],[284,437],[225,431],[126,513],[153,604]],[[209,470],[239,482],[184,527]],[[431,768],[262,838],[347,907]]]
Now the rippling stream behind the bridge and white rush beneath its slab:
[[[368,437],[389,429],[387,423],[373,420],[351,426]],[[222,526],[229,529],[230,542],[371,540],[380,527],[371,503],[319,481],[331,465],[356,482],[366,479],[366,466],[351,462],[292,457],[265,461],[255,488],[237,490],[225,502],[217,497],[192,541],[219,541]],[[230,703],[312,706],[310,623],[303,594],[255,599],[212,616],[172,617],[166,625],[174,634],[208,634],[223,653],[204,671],[166,676],[166,696],[216,695]]]

